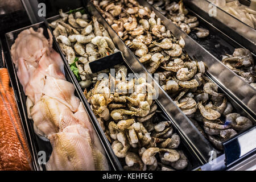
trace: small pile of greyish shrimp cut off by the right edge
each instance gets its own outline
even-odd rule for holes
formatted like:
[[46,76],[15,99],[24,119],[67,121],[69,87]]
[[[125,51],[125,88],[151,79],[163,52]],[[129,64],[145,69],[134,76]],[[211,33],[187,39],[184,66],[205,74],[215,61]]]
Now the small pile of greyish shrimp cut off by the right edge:
[[256,89],[256,67],[248,49],[237,48],[233,55],[222,56],[222,62]]

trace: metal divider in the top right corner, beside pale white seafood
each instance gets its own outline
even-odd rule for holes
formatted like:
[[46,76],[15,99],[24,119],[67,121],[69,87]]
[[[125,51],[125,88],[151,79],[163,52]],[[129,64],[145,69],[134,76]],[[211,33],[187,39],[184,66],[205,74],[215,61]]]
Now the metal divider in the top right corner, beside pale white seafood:
[[[225,34],[256,54],[256,30],[241,22],[224,10],[207,0],[184,0],[184,4],[203,16],[208,22],[219,28]],[[216,7],[216,16],[209,16],[209,11]]]

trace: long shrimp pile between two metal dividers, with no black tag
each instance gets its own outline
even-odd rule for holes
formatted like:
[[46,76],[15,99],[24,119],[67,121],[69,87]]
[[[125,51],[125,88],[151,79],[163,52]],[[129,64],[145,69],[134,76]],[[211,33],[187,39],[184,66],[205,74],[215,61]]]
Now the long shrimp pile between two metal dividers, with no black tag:
[[[159,74],[162,88],[214,146],[221,150],[223,141],[253,125],[248,118],[232,113],[232,104],[217,93],[218,86],[205,76],[204,62],[191,59],[183,51],[184,39],[166,30],[154,12],[134,0],[93,3],[147,71]],[[184,10],[181,3],[179,8]],[[110,7],[115,6],[121,6],[123,11],[113,14]],[[230,120],[229,114],[237,117]]]

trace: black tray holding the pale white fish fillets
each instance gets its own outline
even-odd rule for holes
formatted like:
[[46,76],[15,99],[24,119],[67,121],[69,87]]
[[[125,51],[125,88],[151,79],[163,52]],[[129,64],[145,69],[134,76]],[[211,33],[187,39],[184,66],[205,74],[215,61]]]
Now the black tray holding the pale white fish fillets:
[[[36,24],[32,24],[31,26],[28,27],[24,27],[24,28],[20,28],[18,30],[15,31],[11,31],[9,33],[7,33],[6,36],[6,41],[7,41],[7,46],[10,50],[12,44],[14,43],[15,39],[17,38],[18,34],[27,29],[27,28],[34,28],[34,30],[37,30],[38,28],[42,27],[44,29],[44,36],[46,36],[46,38],[49,38],[48,32],[47,32],[47,23],[46,22],[40,22],[40,23],[36,23]],[[59,52],[59,49],[56,46],[56,43],[53,42],[53,49],[55,49],[55,51]],[[31,119],[28,119],[27,117],[27,108],[26,108],[26,98],[27,96],[24,94],[23,92],[23,88],[22,85],[19,82],[18,76],[16,74],[16,69],[13,63],[13,60],[11,59],[11,55],[10,55],[10,51],[7,53],[7,61],[6,61],[6,65],[7,65],[7,69],[9,71],[10,74],[10,79],[11,79],[11,84],[14,86],[14,93],[16,95],[16,102],[18,105],[18,109],[19,109],[19,114],[20,114],[20,118],[22,119],[23,125],[25,126],[25,133],[26,136],[28,138],[28,142],[30,143],[30,147],[31,147],[31,151],[32,151],[32,157],[33,157],[33,164],[34,164],[34,169],[36,171],[43,171],[46,170],[46,167],[44,164],[40,164],[39,163],[39,157],[40,151],[44,151],[46,152],[46,162],[48,161],[49,157],[51,156],[51,152],[52,152],[52,147],[51,147],[51,143],[49,143],[49,141],[40,138],[38,135],[35,134],[34,132],[34,126],[33,126],[33,121]],[[64,64],[64,72],[65,72],[65,77],[67,79],[67,81],[72,82],[72,78],[67,65]],[[73,82],[72,82],[73,83]],[[75,86],[75,96],[77,96],[80,101],[82,101],[82,98],[80,96],[79,90],[77,90],[77,86]],[[84,103],[83,103],[84,104]],[[84,105],[85,106],[85,105]],[[86,107],[85,107],[86,108]],[[87,114],[89,115],[89,113],[87,112]],[[90,117],[90,115],[89,115]],[[100,140],[101,140],[101,144],[104,147],[104,150],[106,152],[106,157],[109,160],[109,167],[110,169],[114,168],[112,166],[112,158],[110,158],[108,150],[106,150],[106,147],[104,145],[104,142],[101,139],[101,136],[98,133],[98,130],[95,127],[95,123],[93,122],[94,120],[92,118],[90,118],[90,121],[94,127],[94,129],[96,130],[97,135],[99,136]]]

